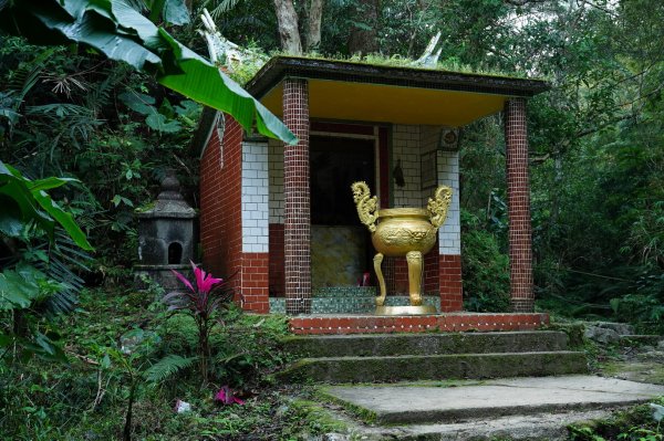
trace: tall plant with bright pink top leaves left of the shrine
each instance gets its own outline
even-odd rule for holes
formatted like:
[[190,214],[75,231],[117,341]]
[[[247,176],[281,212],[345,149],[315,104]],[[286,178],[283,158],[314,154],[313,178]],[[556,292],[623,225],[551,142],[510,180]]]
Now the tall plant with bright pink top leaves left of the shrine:
[[210,330],[217,324],[216,313],[218,313],[220,306],[230,301],[232,292],[222,279],[212,277],[211,274],[207,274],[196,266],[194,262],[191,262],[191,269],[196,279],[196,288],[187,277],[172,270],[187,290],[168,293],[163,301],[168,305],[169,311],[188,312],[196,321],[198,327],[198,361],[204,382],[207,382]]

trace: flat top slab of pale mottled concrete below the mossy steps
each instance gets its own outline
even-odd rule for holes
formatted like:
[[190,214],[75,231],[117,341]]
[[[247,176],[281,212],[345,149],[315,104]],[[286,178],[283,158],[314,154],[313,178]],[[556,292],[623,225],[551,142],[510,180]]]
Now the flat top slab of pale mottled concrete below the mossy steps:
[[483,385],[339,386],[331,396],[365,409],[385,423],[458,422],[627,406],[664,395],[664,386],[595,376],[526,377]]

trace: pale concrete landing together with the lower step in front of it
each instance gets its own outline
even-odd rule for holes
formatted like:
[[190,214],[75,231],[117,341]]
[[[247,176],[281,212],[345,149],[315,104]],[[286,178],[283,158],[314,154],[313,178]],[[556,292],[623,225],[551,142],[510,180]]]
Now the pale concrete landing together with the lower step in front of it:
[[332,386],[322,395],[361,416],[354,431],[362,439],[552,440],[567,439],[564,427],[573,421],[599,418],[603,411],[664,393],[664,386],[595,376],[446,386]]

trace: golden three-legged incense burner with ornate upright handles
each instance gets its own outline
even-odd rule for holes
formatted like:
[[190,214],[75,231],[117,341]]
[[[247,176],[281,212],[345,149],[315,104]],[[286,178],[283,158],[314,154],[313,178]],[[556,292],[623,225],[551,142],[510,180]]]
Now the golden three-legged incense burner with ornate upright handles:
[[[376,314],[436,313],[434,306],[422,304],[422,262],[423,255],[428,253],[436,243],[438,228],[445,222],[452,201],[452,189],[439,186],[434,198],[429,198],[426,209],[378,210],[377,198],[371,196],[366,182],[354,182],[351,188],[360,221],[371,231],[371,241],[377,251],[374,256],[374,270],[378,276],[381,295],[376,297]],[[381,264],[385,255],[390,258],[406,256],[411,306],[384,306],[387,291]]]

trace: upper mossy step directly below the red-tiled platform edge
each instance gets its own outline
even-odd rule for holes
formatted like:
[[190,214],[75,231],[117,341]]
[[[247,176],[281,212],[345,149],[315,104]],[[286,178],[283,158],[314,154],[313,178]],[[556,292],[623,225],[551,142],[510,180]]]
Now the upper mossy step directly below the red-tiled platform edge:
[[449,334],[376,334],[289,337],[284,348],[297,356],[360,357],[530,353],[567,349],[561,332],[500,332]]

